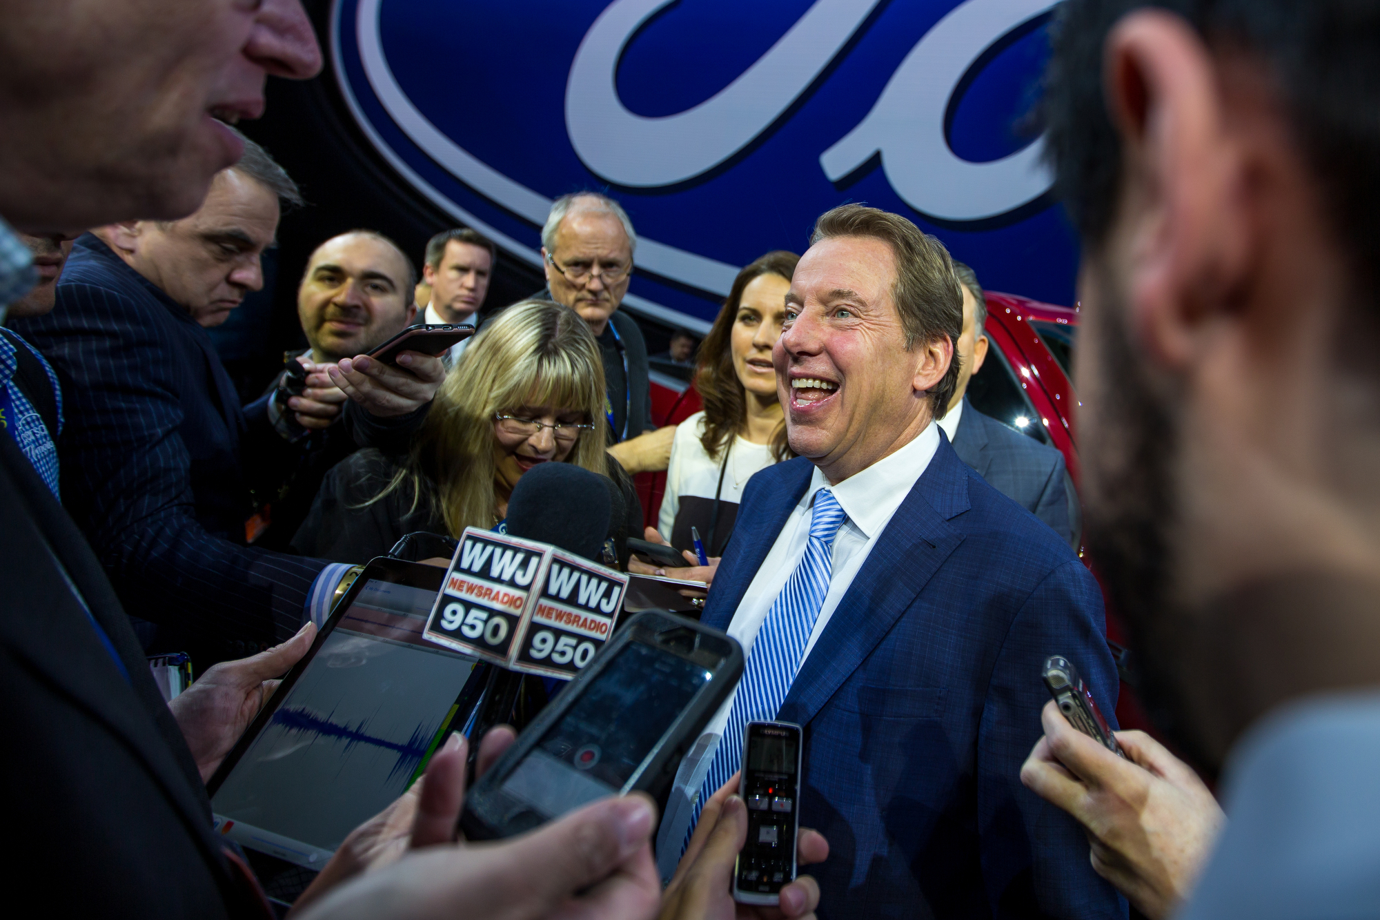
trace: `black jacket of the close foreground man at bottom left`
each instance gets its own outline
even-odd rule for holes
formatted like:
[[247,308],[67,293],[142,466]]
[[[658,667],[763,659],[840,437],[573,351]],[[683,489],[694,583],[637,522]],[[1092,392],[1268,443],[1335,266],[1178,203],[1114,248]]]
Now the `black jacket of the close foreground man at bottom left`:
[[8,876],[65,916],[264,917],[101,564],[10,438],[0,579]]

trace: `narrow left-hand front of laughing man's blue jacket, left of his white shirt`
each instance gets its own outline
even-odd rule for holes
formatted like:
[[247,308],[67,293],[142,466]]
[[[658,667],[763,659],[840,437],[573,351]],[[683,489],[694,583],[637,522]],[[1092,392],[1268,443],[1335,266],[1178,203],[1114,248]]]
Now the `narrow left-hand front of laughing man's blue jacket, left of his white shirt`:
[[791,517],[791,510],[810,486],[813,475],[814,466],[805,457],[796,457],[767,467],[752,477],[748,485],[749,495],[745,495],[742,504],[738,506],[733,539],[729,540],[729,547],[719,562],[719,571],[727,577],[713,580],[701,623],[716,630],[729,629],[742,595],[748,593],[752,579],[771,551],[781,528]]

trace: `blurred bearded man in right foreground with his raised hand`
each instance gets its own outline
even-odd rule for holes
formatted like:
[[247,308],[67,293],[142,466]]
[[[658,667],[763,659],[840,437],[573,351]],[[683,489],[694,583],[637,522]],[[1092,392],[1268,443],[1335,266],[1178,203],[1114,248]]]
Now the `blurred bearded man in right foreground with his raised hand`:
[[1231,821],[1143,735],[1123,761],[1053,709],[1023,779],[1154,917],[1380,914],[1377,44],[1344,0],[1063,11],[1087,544]]

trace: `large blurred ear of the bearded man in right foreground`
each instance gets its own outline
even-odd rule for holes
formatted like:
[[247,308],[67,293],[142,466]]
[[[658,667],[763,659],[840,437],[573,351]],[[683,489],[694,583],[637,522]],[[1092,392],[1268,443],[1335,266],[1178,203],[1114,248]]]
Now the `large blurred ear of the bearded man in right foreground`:
[[1196,358],[1203,320],[1230,301],[1253,245],[1245,156],[1224,123],[1208,47],[1179,17],[1132,12],[1107,39],[1104,88],[1121,134],[1122,189],[1108,245],[1152,361]]

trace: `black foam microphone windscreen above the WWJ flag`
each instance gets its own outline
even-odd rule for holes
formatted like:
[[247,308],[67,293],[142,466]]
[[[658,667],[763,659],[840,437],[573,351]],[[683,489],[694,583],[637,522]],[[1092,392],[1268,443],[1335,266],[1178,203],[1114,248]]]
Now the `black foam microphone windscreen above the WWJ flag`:
[[533,467],[508,500],[508,533],[598,562],[610,517],[609,490],[602,478],[573,463]]

